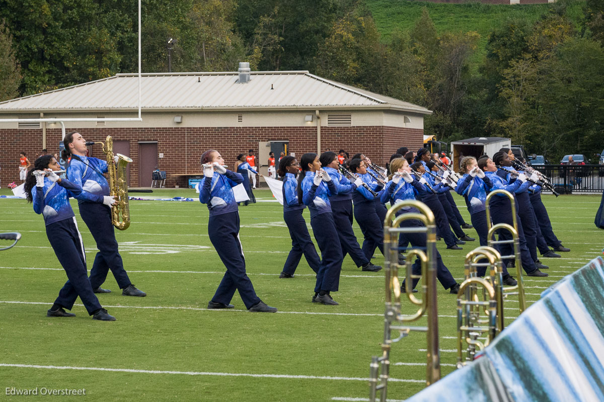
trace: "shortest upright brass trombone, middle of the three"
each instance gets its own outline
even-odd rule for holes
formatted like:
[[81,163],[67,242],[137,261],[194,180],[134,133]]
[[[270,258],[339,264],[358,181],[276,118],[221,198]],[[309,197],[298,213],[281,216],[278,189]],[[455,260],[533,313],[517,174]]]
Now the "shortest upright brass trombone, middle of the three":
[[[466,255],[466,279],[461,283],[457,294],[458,368],[472,362],[477,350],[484,349],[503,331],[502,264],[501,255],[493,247],[478,247]],[[489,275],[484,279],[477,276],[479,266],[490,268]],[[478,340],[481,334],[486,334],[485,342]],[[464,341],[467,343],[465,349]],[[465,358],[464,351],[467,353]]]

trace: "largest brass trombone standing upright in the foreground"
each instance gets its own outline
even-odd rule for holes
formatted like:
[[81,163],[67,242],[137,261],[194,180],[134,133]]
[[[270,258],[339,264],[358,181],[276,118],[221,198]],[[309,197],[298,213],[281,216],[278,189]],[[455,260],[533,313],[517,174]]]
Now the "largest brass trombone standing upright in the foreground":
[[[418,212],[408,212],[396,216],[400,209],[412,206]],[[417,228],[400,228],[404,220],[419,220],[425,226]],[[425,233],[426,251],[412,249],[408,252],[405,268],[406,298],[415,306],[419,306],[416,313],[402,314],[400,308],[400,282],[399,282],[399,234],[400,233]],[[411,272],[413,257],[419,258],[422,263],[422,275],[413,275]],[[388,385],[388,370],[390,369],[390,348],[392,343],[398,342],[408,336],[411,331],[422,331],[427,335],[428,356],[426,368],[426,385],[440,379],[440,351],[439,351],[439,319],[436,303],[436,225],[434,214],[424,203],[416,200],[405,200],[397,203],[390,209],[384,222],[384,274],[386,302],[384,313],[384,342],[382,343],[382,356],[371,358],[370,365],[370,397],[371,402],[376,401],[377,391],[380,391],[380,401],[386,400]],[[411,291],[413,279],[422,278],[422,299],[417,299]],[[426,316],[426,327],[411,327],[410,322]],[[399,336],[391,338],[391,331],[399,331]],[[379,374],[379,380],[378,380]]]

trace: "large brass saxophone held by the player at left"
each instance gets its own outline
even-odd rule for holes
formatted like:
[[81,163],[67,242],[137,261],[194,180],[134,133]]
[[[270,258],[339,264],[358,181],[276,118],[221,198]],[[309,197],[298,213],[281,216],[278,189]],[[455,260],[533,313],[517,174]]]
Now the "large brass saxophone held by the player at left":
[[113,153],[113,139],[108,135],[105,142],[95,142],[101,144],[103,153],[107,157],[107,172],[109,182],[109,195],[115,197],[115,204],[111,206],[111,222],[113,225],[125,231],[130,226],[130,209],[128,206],[128,183],[126,180],[126,167],[132,163],[132,159],[126,155],[117,153],[118,162],[115,163]]

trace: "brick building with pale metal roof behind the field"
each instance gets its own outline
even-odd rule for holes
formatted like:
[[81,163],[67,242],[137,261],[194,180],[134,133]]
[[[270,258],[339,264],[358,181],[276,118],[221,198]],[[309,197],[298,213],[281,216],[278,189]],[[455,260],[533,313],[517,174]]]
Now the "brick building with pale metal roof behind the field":
[[[114,139],[114,152],[133,159],[131,187],[149,187],[151,172],[168,173],[167,187],[201,174],[199,157],[219,150],[233,167],[236,155],[254,149],[266,165],[270,150],[364,152],[384,165],[405,145],[423,145],[423,116],[417,106],[326,80],[307,71],[191,72],[144,74],[143,121],[65,122],[87,141]],[[138,113],[138,75],[118,74],[82,85],[0,103],[4,118],[132,118]],[[0,179],[18,179],[19,152],[30,161],[42,148],[59,150],[59,123],[0,122]],[[98,145],[91,156],[104,158]],[[266,168],[263,168],[265,171]],[[182,176],[175,176],[181,174]],[[18,180],[17,180],[18,181]]]

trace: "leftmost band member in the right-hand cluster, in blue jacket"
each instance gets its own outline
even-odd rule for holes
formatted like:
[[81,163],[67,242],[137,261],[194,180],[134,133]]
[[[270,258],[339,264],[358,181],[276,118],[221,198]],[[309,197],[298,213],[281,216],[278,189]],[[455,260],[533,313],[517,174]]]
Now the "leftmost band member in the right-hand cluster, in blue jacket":
[[316,254],[315,244],[310,240],[306,221],[302,212],[306,205],[298,198],[296,176],[298,161],[293,156],[284,156],[279,162],[277,173],[283,177],[283,220],[288,225],[289,236],[292,238],[292,249],[289,251],[279,278],[293,278],[300,258],[304,254],[310,268],[319,272],[321,259]]

